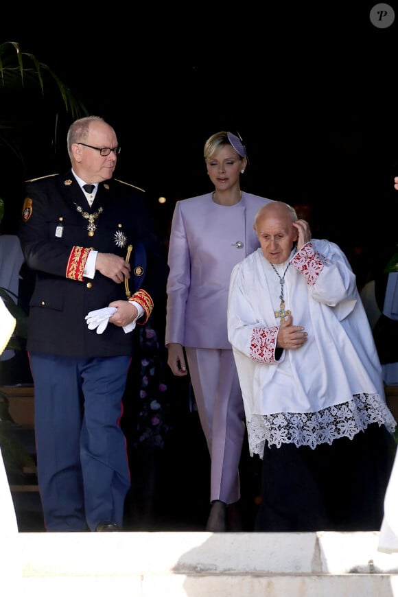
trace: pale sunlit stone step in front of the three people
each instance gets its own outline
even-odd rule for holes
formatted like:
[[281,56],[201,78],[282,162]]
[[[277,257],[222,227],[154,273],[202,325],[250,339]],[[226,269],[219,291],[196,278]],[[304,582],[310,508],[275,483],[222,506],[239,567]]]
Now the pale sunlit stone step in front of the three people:
[[[19,533],[30,597],[398,596],[379,532]],[[21,593],[22,594],[22,593]]]

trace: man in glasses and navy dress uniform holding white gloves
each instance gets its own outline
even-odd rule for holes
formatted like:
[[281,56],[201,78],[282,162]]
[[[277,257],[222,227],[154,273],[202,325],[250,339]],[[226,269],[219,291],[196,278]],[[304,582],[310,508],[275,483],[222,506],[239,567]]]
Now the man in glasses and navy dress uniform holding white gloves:
[[[78,119],[67,148],[67,174],[27,183],[19,233],[36,272],[27,351],[38,485],[46,530],[120,530],[133,329],[148,320],[167,270],[143,191],[113,178],[115,130],[100,117]],[[145,260],[134,266],[137,244]]]

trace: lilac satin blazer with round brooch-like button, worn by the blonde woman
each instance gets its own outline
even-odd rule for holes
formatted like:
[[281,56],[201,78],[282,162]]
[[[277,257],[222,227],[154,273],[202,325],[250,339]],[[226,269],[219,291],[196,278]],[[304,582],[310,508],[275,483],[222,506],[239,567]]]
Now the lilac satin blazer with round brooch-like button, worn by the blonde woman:
[[257,210],[270,199],[243,193],[226,207],[208,193],[176,202],[169,241],[165,344],[231,349],[226,307],[233,267],[259,247]]

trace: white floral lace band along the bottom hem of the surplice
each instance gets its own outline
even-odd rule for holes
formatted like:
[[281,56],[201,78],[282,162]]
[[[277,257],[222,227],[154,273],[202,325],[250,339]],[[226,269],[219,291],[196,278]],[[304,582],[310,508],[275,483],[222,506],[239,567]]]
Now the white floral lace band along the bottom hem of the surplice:
[[309,445],[314,449],[340,437],[352,439],[371,423],[385,425],[390,433],[397,425],[379,394],[354,394],[352,400],[318,412],[253,414],[247,423],[250,456],[259,454],[262,458],[266,441],[276,447],[294,443],[296,447]]

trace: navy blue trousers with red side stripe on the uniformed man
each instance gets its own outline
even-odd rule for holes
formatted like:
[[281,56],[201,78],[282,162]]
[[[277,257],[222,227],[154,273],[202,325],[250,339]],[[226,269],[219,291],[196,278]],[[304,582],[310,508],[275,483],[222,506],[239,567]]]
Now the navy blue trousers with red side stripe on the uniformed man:
[[130,360],[30,353],[46,530],[123,524],[130,471],[120,419]]

